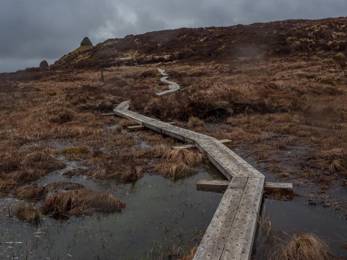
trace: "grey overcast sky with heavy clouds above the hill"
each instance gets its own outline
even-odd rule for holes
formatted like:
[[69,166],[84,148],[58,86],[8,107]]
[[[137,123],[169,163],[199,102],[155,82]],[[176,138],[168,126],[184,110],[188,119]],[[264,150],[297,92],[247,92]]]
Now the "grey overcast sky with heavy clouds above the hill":
[[0,72],[51,64],[85,36],[346,14],[347,0],[0,0]]

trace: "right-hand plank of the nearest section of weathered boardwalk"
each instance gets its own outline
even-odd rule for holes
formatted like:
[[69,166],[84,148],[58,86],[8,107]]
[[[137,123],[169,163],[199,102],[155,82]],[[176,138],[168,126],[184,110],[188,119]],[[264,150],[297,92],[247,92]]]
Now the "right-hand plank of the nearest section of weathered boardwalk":
[[220,260],[251,258],[265,177],[248,177]]

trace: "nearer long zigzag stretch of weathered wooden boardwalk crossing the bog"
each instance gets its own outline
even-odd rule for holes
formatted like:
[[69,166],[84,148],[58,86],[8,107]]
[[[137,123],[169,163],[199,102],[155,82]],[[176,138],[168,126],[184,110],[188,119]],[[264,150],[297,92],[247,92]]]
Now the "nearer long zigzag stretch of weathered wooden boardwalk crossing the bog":
[[190,142],[230,181],[194,260],[250,259],[265,176],[217,139],[129,111],[129,105],[130,101],[124,101],[113,112],[146,128]]

